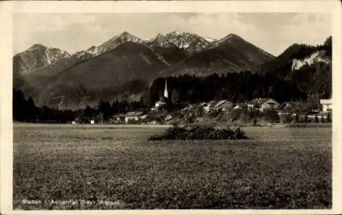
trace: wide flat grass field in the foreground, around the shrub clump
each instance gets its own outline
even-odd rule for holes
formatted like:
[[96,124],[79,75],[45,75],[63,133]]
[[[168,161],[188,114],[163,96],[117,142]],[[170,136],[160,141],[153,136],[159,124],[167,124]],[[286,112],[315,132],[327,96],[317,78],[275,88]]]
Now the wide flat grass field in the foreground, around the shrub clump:
[[332,206],[331,128],[244,128],[251,139],[237,141],[147,141],[163,130],[14,124],[14,209]]

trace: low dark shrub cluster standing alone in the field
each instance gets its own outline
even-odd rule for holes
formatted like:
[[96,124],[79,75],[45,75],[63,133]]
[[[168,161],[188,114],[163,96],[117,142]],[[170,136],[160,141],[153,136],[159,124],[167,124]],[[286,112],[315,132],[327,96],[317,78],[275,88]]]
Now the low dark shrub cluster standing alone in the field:
[[164,134],[153,135],[150,141],[160,140],[222,140],[222,139],[248,139],[240,128],[213,128],[213,126],[192,126],[192,128],[181,128],[172,126]]

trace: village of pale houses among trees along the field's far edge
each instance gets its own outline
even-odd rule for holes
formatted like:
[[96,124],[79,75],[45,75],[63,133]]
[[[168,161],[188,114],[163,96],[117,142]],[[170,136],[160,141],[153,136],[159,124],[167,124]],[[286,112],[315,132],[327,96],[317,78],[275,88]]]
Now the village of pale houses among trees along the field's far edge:
[[[150,110],[131,111],[118,114],[107,120],[100,113],[94,115],[89,124],[207,124],[210,122],[253,124],[291,122],[331,122],[332,100],[319,100],[320,109],[310,109],[302,102],[280,104],[272,98],[256,98],[249,102],[234,103],[229,100],[212,100],[200,104],[188,104],[183,109],[168,112],[166,102],[155,102]],[[276,114],[276,115],[275,115]],[[72,124],[82,124],[79,118]]]

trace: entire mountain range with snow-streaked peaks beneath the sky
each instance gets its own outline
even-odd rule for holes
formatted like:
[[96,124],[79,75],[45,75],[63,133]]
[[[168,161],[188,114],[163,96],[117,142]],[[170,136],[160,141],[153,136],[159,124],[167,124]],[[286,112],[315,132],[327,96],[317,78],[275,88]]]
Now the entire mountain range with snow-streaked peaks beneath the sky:
[[139,100],[159,76],[257,72],[277,60],[235,34],[213,40],[174,31],[143,40],[124,31],[74,54],[34,44],[13,57],[13,78],[40,106],[77,109],[100,99]]

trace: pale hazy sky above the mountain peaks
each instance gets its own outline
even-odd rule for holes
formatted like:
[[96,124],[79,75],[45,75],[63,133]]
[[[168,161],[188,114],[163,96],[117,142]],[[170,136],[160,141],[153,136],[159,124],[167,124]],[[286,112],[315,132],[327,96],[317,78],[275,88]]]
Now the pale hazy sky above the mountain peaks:
[[14,14],[13,51],[33,44],[61,48],[68,53],[103,44],[128,31],[142,38],[157,33],[186,31],[220,39],[235,33],[272,55],[293,43],[322,44],[332,35],[330,14],[298,13],[122,13],[122,14]]

